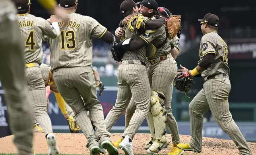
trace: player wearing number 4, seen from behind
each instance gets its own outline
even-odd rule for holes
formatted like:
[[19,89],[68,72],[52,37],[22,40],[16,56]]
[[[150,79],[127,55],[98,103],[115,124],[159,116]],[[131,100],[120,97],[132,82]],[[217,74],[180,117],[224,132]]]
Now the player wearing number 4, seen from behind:
[[[29,0],[14,0],[18,9],[17,21],[21,37],[25,45],[25,72],[27,78],[28,92],[35,110],[35,120],[42,126],[47,139],[49,154],[58,154],[56,138],[52,133],[50,117],[47,113],[47,99],[45,83],[40,71],[43,59],[42,40],[47,35],[56,38],[60,34],[58,23],[51,26],[45,19],[30,15]],[[55,19],[52,19],[54,21]]]

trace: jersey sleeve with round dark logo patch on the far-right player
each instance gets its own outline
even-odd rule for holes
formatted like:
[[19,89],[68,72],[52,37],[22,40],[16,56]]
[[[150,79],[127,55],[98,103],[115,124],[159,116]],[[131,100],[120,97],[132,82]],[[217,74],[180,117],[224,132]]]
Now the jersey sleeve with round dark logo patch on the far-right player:
[[208,53],[216,54],[216,50],[215,50],[216,45],[217,43],[212,36],[204,35],[200,43],[200,50],[202,52],[202,56],[204,57]]

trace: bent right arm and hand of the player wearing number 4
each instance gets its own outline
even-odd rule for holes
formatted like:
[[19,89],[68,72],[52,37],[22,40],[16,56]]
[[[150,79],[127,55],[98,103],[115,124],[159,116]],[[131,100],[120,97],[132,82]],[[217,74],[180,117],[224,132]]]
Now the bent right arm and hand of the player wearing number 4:
[[58,25],[59,19],[55,15],[51,15],[50,21],[52,21],[52,25],[50,25],[48,21],[44,20],[44,26],[41,28],[44,36],[54,39],[60,35],[60,27]]

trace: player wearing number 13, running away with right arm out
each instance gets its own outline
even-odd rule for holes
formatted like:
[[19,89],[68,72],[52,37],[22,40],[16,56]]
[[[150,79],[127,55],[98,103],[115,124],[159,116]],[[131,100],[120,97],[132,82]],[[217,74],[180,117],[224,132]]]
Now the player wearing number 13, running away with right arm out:
[[[91,36],[101,38],[107,43],[113,43],[115,37],[95,19],[75,13],[77,5],[77,0],[60,0],[59,6],[69,15],[70,20],[66,25],[60,20],[60,36],[49,39],[54,81],[60,95],[74,111],[75,119],[89,143],[91,155],[98,155],[100,151],[97,140],[110,155],[117,155],[118,149],[112,145],[111,134],[105,127],[91,66]],[[90,117],[87,116],[87,111]],[[96,133],[91,121],[97,128]]]

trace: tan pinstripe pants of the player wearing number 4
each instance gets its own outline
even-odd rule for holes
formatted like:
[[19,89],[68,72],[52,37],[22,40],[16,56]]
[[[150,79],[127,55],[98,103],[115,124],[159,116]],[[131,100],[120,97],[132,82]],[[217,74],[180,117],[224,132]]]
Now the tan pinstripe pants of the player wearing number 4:
[[41,125],[45,134],[52,133],[52,123],[47,113],[45,82],[42,78],[39,64],[35,67],[26,68],[25,72],[27,89],[34,106],[35,120]]

